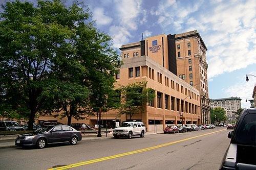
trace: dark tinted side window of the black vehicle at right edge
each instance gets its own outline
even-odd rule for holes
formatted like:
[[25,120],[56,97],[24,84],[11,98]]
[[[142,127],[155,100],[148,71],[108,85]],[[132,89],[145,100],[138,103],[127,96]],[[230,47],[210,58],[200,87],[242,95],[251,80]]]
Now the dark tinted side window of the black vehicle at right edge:
[[256,144],[256,114],[247,114],[237,138],[238,144]]

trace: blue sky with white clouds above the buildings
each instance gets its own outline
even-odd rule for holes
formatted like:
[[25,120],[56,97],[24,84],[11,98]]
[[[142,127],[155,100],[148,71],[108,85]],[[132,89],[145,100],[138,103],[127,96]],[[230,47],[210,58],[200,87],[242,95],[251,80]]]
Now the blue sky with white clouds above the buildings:
[[[141,40],[141,33],[148,37],[197,30],[208,48],[209,97],[238,96],[243,108],[250,106],[245,99],[252,99],[256,78],[245,78],[256,76],[255,0],[77,1],[89,6],[96,27],[113,38],[118,53],[122,44]],[[73,0],[64,2],[69,6]]]

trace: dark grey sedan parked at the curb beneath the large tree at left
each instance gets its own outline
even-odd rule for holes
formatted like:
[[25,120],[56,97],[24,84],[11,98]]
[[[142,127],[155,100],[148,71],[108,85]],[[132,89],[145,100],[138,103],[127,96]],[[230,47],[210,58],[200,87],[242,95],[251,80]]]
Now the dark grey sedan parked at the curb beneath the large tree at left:
[[80,131],[70,126],[57,125],[39,128],[29,134],[18,135],[15,139],[15,145],[22,147],[36,145],[38,149],[42,149],[50,143],[70,142],[70,144],[75,145],[81,139]]

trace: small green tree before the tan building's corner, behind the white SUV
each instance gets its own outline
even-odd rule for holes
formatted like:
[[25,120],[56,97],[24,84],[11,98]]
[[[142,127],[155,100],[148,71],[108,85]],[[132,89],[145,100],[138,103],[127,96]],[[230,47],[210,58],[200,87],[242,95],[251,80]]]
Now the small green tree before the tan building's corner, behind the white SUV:
[[156,96],[155,90],[146,87],[147,82],[136,82],[121,86],[121,105],[119,114],[129,115],[144,113],[146,104],[152,102]]

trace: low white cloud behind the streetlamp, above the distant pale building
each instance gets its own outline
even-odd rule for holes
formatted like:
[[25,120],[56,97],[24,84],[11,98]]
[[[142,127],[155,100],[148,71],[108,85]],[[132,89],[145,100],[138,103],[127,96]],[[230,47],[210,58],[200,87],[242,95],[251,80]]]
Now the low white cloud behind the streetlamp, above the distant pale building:
[[[249,74],[256,75],[256,72],[250,72]],[[227,96],[238,96],[242,99],[241,106],[242,108],[249,108],[250,102],[247,100],[245,102],[245,99],[252,99],[252,91],[255,85],[255,79],[249,77],[249,81],[245,81],[245,75],[243,77],[238,78],[238,83],[228,87],[225,90],[225,93]]]

